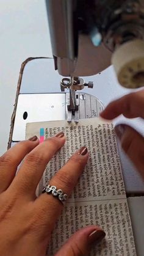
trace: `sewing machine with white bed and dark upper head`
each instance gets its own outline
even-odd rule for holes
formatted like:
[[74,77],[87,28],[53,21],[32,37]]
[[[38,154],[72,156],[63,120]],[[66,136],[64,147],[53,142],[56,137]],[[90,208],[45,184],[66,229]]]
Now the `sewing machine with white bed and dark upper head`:
[[[28,122],[98,117],[113,98],[144,84],[143,0],[47,0],[46,7],[54,59],[21,65],[9,147],[24,139]],[[115,120],[121,122],[144,134],[142,120]],[[119,152],[135,245],[143,255],[144,198],[131,195],[143,195],[144,185]]]

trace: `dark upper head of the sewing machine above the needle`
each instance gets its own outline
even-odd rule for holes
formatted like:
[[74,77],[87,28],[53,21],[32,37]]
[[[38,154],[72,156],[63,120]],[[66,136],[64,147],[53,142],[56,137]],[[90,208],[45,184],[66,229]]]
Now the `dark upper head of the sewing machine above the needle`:
[[[134,49],[135,40],[144,42],[143,0],[46,0],[46,7],[55,68],[60,75],[95,75],[110,65],[112,52],[125,43],[134,42]],[[131,68],[140,59],[139,69],[132,67],[134,79],[128,83],[117,73],[123,68],[119,59],[117,65],[113,62],[118,81],[124,87],[144,84],[144,51],[140,51],[141,57],[135,54],[132,62],[124,63]]]

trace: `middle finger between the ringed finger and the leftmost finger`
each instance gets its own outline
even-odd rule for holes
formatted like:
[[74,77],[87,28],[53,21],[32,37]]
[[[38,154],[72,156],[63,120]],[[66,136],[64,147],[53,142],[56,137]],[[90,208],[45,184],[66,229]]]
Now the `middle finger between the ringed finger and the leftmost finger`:
[[49,137],[46,141],[34,148],[24,159],[10,189],[16,188],[16,191],[19,191],[20,194],[24,193],[27,194],[29,198],[34,198],[35,190],[43,175],[46,164],[48,164],[54,153],[56,153],[64,143],[65,136],[63,133],[60,133],[55,137]]

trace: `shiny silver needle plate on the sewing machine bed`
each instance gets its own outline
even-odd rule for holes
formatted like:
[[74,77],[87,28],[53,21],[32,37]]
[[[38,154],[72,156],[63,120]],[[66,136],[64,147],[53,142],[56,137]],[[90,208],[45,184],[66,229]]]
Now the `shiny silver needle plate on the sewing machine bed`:
[[12,142],[25,139],[26,123],[99,117],[99,113],[104,109],[101,101],[87,93],[76,92],[76,98],[77,95],[79,109],[72,116],[73,113],[67,108],[69,93],[20,94],[16,107]]

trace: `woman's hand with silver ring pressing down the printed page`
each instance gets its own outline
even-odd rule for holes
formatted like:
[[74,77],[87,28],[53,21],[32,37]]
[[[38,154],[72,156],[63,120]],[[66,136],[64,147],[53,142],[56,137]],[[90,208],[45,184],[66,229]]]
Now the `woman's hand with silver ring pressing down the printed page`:
[[[35,197],[35,189],[46,164],[65,143],[63,133],[39,144],[37,136],[10,148],[0,158],[0,255],[42,256],[63,205],[51,194]],[[18,174],[16,169],[24,159]],[[71,194],[87,163],[87,148],[71,156],[65,166],[49,181]],[[57,252],[57,256],[87,255],[92,243],[105,233],[95,225],[76,232]]]

